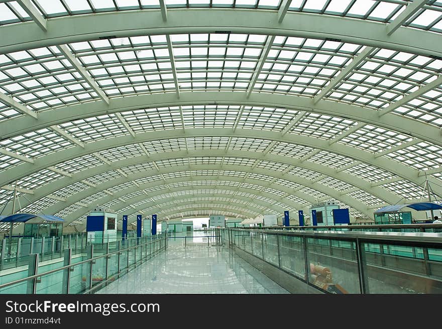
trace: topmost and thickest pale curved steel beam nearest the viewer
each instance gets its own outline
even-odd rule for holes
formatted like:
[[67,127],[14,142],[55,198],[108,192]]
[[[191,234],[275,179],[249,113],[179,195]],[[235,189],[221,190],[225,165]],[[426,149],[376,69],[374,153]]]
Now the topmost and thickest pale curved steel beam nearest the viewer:
[[436,33],[400,27],[387,34],[387,26],[362,19],[288,12],[278,22],[278,11],[253,9],[168,9],[94,13],[47,20],[47,31],[34,22],[0,28],[0,53],[109,37],[160,34],[215,33],[266,34],[344,42],[393,49],[424,56],[442,56]]

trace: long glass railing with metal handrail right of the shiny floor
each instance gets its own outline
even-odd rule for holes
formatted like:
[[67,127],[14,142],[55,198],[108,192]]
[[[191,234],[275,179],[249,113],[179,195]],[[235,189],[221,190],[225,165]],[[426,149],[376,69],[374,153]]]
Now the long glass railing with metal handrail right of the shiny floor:
[[442,293],[442,234],[222,229],[236,247],[328,293]]

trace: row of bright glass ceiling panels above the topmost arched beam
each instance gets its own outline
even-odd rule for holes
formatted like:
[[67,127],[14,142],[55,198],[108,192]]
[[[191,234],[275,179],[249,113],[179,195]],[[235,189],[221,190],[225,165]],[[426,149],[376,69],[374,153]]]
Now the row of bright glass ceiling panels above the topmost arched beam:
[[[409,0],[292,0],[290,12],[315,13],[390,22],[405,8]],[[158,0],[33,0],[44,18],[92,14],[100,12],[159,9]],[[281,0],[166,0],[167,8],[237,8],[277,11]],[[430,0],[413,15],[405,26],[441,32],[442,3]],[[16,2],[0,4],[0,25],[30,21],[31,18]]]

